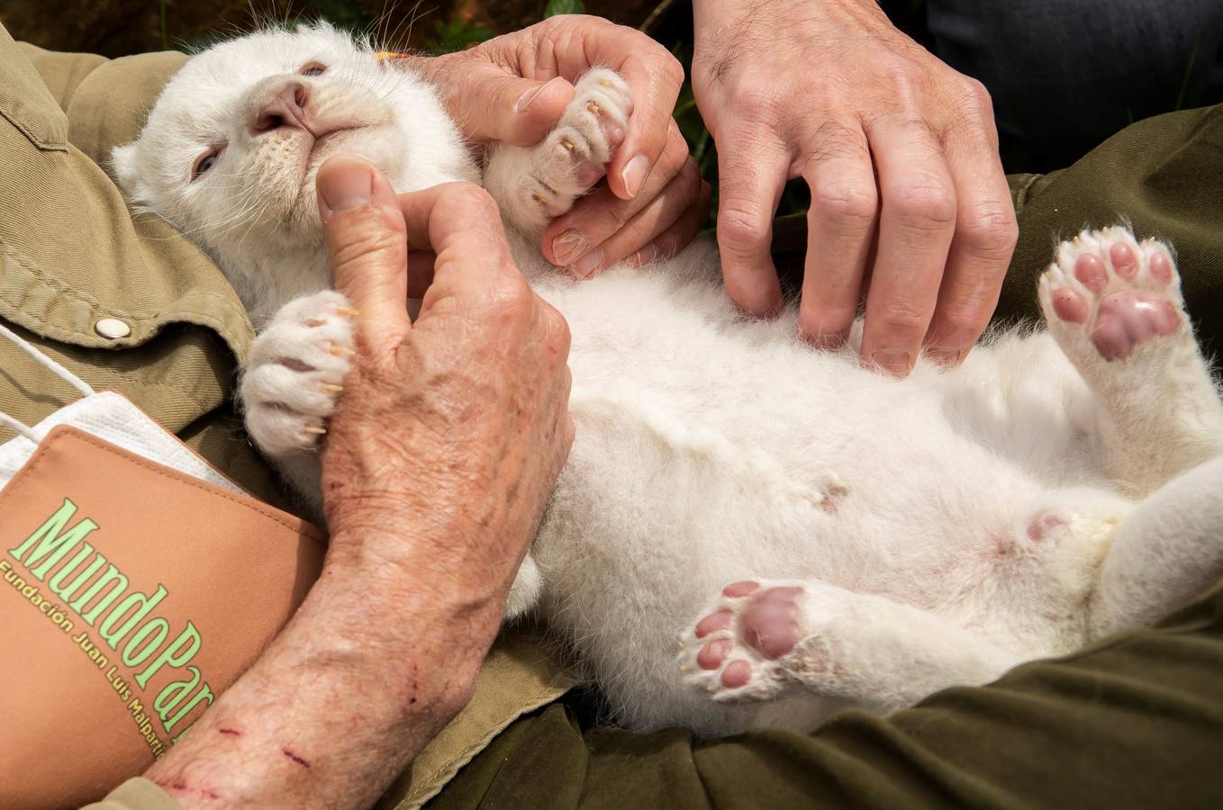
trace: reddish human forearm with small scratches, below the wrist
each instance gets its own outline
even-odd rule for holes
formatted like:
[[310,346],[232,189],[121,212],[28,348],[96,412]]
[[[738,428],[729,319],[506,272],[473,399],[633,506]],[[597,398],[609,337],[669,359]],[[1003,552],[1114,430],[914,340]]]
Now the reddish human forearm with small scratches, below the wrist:
[[182,806],[366,806],[466,702],[495,615],[451,610],[423,562],[350,562],[149,768]]

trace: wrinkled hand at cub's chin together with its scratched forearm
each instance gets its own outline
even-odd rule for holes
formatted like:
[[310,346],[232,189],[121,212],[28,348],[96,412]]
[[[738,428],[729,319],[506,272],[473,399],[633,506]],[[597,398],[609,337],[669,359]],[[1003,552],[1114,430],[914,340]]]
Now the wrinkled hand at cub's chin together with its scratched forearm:
[[[317,182],[361,308],[323,454],[331,541],[280,635],[146,772],[185,809],[373,804],[470,699],[572,442],[567,327],[489,197],[396,198],[346,156]],[[437,252],[415,324],[408,241]]]

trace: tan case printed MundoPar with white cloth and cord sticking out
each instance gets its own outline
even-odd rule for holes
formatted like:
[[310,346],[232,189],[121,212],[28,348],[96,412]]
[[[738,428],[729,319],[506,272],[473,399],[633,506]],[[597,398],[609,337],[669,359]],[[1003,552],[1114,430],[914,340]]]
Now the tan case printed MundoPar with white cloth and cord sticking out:
[[20,434],[0,446],[0,806],[79,806],[254,661],[324,545],[119,395],[0,335],[84,395],[35,426],[0,417]]

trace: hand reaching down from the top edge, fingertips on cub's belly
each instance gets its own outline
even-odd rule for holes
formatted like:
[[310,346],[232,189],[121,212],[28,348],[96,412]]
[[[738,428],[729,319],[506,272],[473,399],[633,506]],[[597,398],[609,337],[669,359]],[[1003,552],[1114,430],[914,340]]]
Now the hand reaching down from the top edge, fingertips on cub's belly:
[[959,363],[1018,238],[989,97],[873,0],[697,0],[692,84],[718,144],[726,291],[756,315],[786,178],[811,188],[801,334],[838,346],[866,297],[862,358],[904,376]]

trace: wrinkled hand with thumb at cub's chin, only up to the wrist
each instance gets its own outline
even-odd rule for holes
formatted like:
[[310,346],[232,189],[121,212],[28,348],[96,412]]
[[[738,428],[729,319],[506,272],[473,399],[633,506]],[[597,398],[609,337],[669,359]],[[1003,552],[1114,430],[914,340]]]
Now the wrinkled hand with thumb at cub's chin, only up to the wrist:
[[[330,553],[389,571],[411,560],[411,582],[490,641],[574,439],[567,325],[515,268],[483,189],[396,199],[364,161],[328,164],[318,188],[333,271],[360,312],[323,456]],[[435,253],[415,323],[410,243]]]

